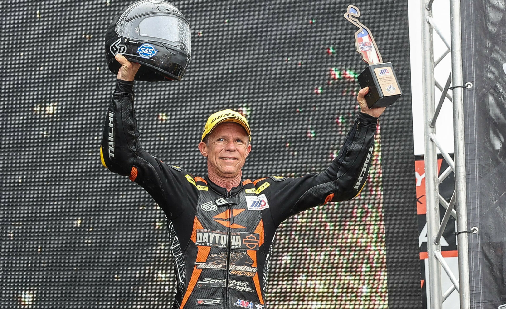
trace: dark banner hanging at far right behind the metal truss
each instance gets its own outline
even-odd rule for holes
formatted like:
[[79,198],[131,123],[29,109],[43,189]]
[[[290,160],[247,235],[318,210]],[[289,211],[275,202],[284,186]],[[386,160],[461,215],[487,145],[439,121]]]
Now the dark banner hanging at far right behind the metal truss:
[[468,227],[472,308],[506,307],[506,9],[462,0]]

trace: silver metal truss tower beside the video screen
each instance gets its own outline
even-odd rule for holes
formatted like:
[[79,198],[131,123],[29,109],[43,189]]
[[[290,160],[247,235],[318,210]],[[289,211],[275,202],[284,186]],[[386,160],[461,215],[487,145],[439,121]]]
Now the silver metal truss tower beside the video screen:
[[[460,308],[470,308],[469,289],[469,253],[468,253],[468,223],[466,201],[466,166],[464,152],[464,121],[463,121],[463,87],[472,84],[462,84],[462,50],[460,30],[460,0],[450,0],[450,33],[451,40],[443,36],[440,28],[432,18],[432,4],[434,0],[421,0],[421,32],[422,32],[422,74],[423,74],[423,102],[424,102],[424,139],[425,139],[425,173],[427,198],[427,228],[428,228],[428,255],[429,278],[427,281],[430,309],[441,309],[443,301],[453,292],[457,291],[460,298]],[[433,30],[443,42],[447,50],[434,60]],[[451,51],[451,73],[446,84],[441,84],[434,77],[434,68]],[[446,77],[446,76],[444,76]],[[450,87],[453,84],[453,87]],[[435,105],[434,87],[442,92],[439,103]],[[452,90],[452,94],[448,93]],[[454,134],[454,160],[445,151],[436,135],[436,120],[441,106],[448,98],[453,104],[453,134]],[[448,168],[438,177],[437,149],[448,163]],[[448,149],[448,148],[446,148]],[[451,173],[455,175],[455,191],[450,202],[439,194],[439,184]],[[443,219],[440,220],[439,204],[446,208]],[[448,264],[441,255],[440,240],[448,223],[450,215],[457,219],[457,250],[458,250],[458,280],[451,272]],[[459,233],[462,232],[462,233]],[[475,231],[473,231],[475,232]],[[443,293],[441,286],[441,269],[449,277],[452,285]]]

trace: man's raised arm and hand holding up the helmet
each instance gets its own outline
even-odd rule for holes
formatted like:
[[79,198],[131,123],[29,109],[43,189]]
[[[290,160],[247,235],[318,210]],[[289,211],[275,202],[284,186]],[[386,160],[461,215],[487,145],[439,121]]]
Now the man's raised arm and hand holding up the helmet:
[[[133,92],[133,80],[140,65],[120,57],[122,59],[118,60],[118,56],[116,59],[123,66],[118,72],[102,135],[102,164],[115,173],[129,176],[130,180],[148,191],[162,208],[170,207],[163,209],[167,216],[178,216],[183,210],[182,192],[188,191],[190,183],[183,171],[167,166],[141,147]],[[129,68],[123,70],[125,64]]]

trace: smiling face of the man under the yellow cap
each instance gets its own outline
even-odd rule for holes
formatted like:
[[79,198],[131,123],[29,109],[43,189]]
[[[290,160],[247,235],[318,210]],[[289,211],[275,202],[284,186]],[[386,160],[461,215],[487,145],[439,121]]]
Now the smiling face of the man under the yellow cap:
[[218,124],[207,136],[207,144],[200,142],[198,148],[207,157],[209,174],[221,178],[237,176],[251,151],[246,130],[230,121]]

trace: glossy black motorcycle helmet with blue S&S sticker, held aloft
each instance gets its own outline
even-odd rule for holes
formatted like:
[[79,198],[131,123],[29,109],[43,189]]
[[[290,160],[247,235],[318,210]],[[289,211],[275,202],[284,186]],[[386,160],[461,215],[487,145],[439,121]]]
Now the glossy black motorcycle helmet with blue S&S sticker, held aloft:
[[123,55],[141,64],[136,80],[181,80],[191,50],[190,26],[173,4],[141,0],[121,11],[105,35],[107,65],[114,74]]

